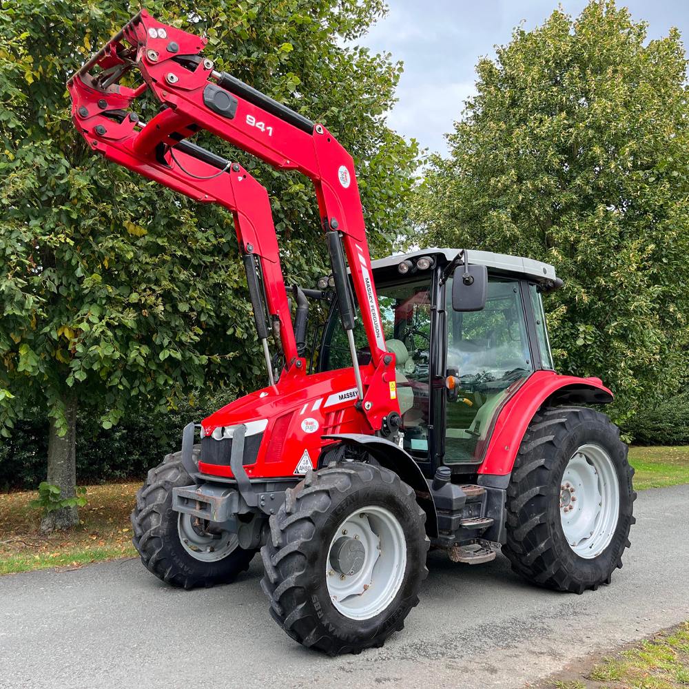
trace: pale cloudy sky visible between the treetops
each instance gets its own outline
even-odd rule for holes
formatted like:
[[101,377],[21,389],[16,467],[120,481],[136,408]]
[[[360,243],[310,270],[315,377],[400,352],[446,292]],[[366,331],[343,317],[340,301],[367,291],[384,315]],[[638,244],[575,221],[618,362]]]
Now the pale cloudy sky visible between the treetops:
[[[388,122],[421,147],[446,154],[443,138],[460,118],[463,101],[474,92],[474,68],[482,55],[495,56],[494,45],[508,43],[522,19],[525,28],[542,24],[557,0],[388,0],[387,17],[358,41],[371,50],[392,53],[404,62]],[[666,36],[677,26],[689,41],[689,0],[618,0],[633,19],[649,23],[648,37]],[[576,16],[586,0],[562,0]]]

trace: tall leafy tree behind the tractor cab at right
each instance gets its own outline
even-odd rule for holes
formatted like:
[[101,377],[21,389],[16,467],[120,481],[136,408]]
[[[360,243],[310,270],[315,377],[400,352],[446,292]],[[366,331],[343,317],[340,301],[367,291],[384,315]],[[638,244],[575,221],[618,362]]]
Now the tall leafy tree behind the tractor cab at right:
[[517,28],[415,200],[426,245],[555,265],[559,368],[610,384],[618,422],[686,374],[686,66],[677,30],[646,43],[612,0]]

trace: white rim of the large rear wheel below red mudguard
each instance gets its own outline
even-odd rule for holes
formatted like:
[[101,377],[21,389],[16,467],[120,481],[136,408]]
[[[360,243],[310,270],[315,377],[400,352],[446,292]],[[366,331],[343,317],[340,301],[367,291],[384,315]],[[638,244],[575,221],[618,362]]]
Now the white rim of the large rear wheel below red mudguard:
[[598,445],[582,445],[569,460],[560,486],[562,531],[586,559],[600,555],[615,535],[619,481],[613,460]]

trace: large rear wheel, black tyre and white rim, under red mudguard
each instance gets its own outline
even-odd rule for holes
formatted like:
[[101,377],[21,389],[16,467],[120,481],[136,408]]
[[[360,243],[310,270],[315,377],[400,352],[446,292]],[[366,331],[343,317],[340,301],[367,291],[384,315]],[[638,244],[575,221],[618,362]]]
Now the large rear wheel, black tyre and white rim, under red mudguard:
[[573,593],[610,584],[635,522],[633,474],[606,415],[582,407],[535,415],[507,489],[502,552],[513,570]]

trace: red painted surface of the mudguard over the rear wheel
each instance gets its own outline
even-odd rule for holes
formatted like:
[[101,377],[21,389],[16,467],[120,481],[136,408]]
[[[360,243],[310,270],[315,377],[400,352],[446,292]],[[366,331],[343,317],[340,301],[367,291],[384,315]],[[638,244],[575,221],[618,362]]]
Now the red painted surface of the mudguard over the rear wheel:
[[526,426],[531,422],[541,404],[560,388],[582,384],[606,391],[610,393],[610,397],[613,396],[600,378],[560,376],[555,371],[532,373],[502,407],[491,433],[486,458],[478,469],[478,473],[498,475],[510,473]]

